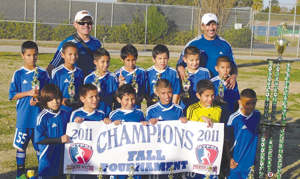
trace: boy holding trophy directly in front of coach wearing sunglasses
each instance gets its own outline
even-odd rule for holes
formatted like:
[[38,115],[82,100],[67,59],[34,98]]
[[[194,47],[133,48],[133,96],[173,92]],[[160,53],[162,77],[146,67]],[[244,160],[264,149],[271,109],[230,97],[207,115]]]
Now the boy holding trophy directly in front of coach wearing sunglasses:
[[[73,111],[73,109],[82,104],[71,104],[70,103],[70,94],[68,91],[68,86],[70,85],[69,81],[71,80],[71,75],[74,73],[74,86],[75,86],[75,96],[74,101],[78,100],[79,96],[79,87],[83,84],[83,72],[78,67],[74,66],[78,59],[78,47],[72,41],[68,41],[62,45],[62,58],[65,59],[65,63],[61,64],[59,67],[52,70],[51,80],[52,83],[58,85],[60,90],[62,91],[62,106],[61,109],[69,112]],[[77,107],[78,108],[78,107]]]

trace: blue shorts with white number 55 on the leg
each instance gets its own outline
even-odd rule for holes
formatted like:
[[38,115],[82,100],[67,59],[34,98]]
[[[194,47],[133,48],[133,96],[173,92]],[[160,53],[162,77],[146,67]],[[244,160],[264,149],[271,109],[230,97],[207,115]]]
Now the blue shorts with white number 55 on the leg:
[[26,150],[31,140],[34,150],[39,150],[39,145],[34,142],[34,128],[16,128],[13,146],[19,150]]

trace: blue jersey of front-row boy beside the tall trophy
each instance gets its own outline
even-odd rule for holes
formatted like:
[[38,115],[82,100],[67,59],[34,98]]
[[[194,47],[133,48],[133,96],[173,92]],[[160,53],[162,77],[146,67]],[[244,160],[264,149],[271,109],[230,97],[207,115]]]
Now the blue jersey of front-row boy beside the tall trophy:
[[229,141],[234,136],[234,145],[229,147],[230,155],[238,163],[237,168],[231,171],[248,171],[254,165],[260,118],[261,113],[257,109],[249,116],[239,109],[229,117],[224,139]]

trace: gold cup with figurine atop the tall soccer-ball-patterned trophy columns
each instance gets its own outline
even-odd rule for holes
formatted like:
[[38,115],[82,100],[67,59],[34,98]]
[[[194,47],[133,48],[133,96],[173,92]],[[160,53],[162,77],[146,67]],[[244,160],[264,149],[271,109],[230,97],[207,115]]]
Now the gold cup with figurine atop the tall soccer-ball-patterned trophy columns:
[[[285,34],[286,34],[286,30],[287,30],[287,24],[286,24],[286,22],[284,22],[283,24],[281,24],[280,26],[279,26],[279,28],[280,27],[282,27],[282,30],[281,30],[281,32],[280,32],[280,34],[279,34],[279,39],[277,39],[276,41],[274,41],[274,46],[275,46],[275,48],[276,48],[276,50],[277,50],[277,52],[278,52],[278,55],[279,55],[279,57],[277,58],[277,60],[282,60],[282,54],[283,54],[283,52],[285,51],[285,48],[287,47],[287,46],[289,46],[289,41],[286,41],[285,39],[284,39],[284,37],[285,37]],[[283,32],[284,31],[284,32]]]

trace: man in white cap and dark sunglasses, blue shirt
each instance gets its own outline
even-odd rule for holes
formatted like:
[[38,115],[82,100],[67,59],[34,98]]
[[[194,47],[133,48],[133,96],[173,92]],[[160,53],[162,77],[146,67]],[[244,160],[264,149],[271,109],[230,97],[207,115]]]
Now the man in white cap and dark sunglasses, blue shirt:
[[62,45],[68,41],[76,43],[78,47],[78,60],[75,66],[77,66],[83,71],[84,77],[86,77],[92,71],[95,70],[95,64],[94,59],[92,57],[92,53],[94,53],[94,51],[101,47],[101,43],[99,39],[90,36],[93,26],[93,17],[86,10],[79,11],[75,15],[75,21],[73,22],[73,25],[77,30],[77,35],[83,40],[83,43],[85,43],[91,51],[88,52],[88,50],[82,45],[82,43],[77,42],[72,36],[68,37],[59,44],[58,49],[53,57],[53,60],[47,66],[46,70],[48,71],[49,75],[51,75],[51,71],[54,68],[58,67],[59,65],[65,62],[65,60],[61,56]]

